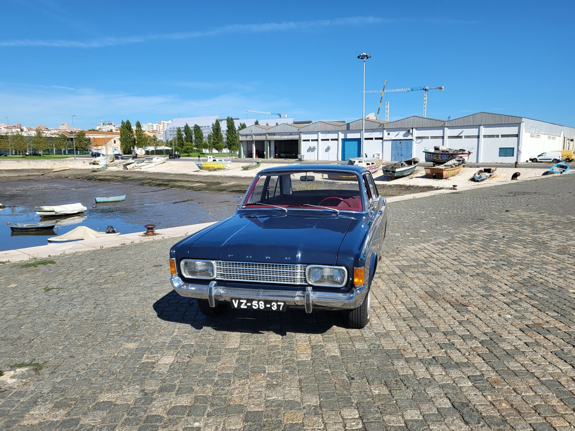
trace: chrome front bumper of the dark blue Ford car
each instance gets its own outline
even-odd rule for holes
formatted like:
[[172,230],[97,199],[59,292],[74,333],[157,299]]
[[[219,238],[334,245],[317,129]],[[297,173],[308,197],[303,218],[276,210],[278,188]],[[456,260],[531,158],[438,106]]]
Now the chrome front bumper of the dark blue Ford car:
[[283,301],[288,306],[304,307],[306,313],[311,313],[314,305],[334,309],[354,309],[363,303],[367,293],[366,286],[352,288],[347,293],[313,291],[312,286],[306,286],[305,290],[297,291],[281,290],[278,286],[269,288],[221,287],[216,281],[208,285],[187,283],[177,275],[171,276],[170,282],[174,290],[182,297],[207,299],[211,307],[215,307],[217,301],[230,302],[232,298],[262,299]]

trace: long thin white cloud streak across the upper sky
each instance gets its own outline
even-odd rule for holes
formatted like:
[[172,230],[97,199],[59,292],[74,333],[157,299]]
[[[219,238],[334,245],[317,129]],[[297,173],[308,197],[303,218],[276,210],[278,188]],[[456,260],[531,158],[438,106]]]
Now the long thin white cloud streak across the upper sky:
[[[45,48],[103,48],[116,45],[143,43],[154,40],[194,39],[197,37],[220,36],[229,33],[267,33],[286,30],[317,29],[327,26],[366,25],[393,22],[416,22],[421,18],[381,18],[381,17],[347,17],[331,20],[265,22],[262,24],[233,24],[196,32],[158,33],[134,36],[103,37],[85,41],[65,39],[14,39],[0,41],[0,47],[45,47]],[[427,19],[425,22],[469,24],[474,21],[454,21]]]

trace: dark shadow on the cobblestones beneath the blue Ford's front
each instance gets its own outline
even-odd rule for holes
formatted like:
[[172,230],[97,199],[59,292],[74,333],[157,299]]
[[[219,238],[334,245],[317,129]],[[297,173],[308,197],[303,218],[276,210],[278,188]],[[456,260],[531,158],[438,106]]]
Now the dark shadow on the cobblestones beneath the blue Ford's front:
[[323,334],[333,326],[348,328],[347,313],[343,311],[315,311],[307,314],[304,310],[286,311],[237,310],[228,307],[218,317],[206,317],[198,309],[195,299],[184,298],[174,290],[154,302],[158,318],[179,324],[190,325],[195,329],[205,327],[215,330],[269,333],[284,336],[287,333]]

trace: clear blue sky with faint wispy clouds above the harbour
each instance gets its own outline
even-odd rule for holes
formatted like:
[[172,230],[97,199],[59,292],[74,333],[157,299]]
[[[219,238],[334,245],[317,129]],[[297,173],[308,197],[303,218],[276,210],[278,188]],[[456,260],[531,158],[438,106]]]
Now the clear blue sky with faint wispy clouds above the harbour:
[[[365,51],[367,90],[384,79],[445,86],[430,91],[428,117],[490,111],[575,126],[572,0],[13,1],[3,16],[0,122],[253,118],[247,109],[355,120]],[[391,120],[421,115],[422,91],[384,100]],[[366,114],[378,103],[366,95]]]

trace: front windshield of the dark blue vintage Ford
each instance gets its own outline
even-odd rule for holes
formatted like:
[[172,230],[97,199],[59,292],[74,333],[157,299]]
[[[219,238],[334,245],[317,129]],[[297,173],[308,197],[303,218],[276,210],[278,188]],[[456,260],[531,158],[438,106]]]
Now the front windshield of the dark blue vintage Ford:
[[258,175],[248,190],[244,208],[325,206],[340,211],[362,211],[358,176],[351,172],[297,171]]

